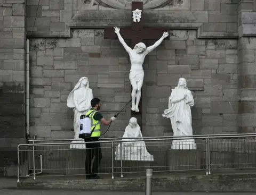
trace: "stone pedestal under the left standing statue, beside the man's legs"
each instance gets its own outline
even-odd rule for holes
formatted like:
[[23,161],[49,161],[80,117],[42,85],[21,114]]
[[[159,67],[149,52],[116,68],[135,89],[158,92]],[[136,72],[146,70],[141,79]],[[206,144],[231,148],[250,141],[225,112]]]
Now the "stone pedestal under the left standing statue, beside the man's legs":
[[67,151],[66,174],[85,174],[85,149],[70,149]]

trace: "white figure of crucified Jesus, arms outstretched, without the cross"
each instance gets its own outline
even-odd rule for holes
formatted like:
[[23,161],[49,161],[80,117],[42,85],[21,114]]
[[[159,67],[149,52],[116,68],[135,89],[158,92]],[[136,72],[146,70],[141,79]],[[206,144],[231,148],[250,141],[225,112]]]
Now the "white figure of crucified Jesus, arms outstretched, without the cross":
[[[144,62],[145,56],[148,53],[152,52],[157,46],[159,46],[169,34],[168,32],[164,32],[163,36],[158,41],[156,41],[156,43],[152,46],[146,47],[145,44],[138,43],[132,49],[131,47],[127,46],[124,39],[120,35],[120,29],[117,27],[114,27],[114,29],[120,43],[123,45],[126,52],[130,56],[131,70],[129,74],[129,79],[132,85],[132,95],[131,95],[132,111],[140,112],[139,102],[140,102],[141,88],[142,88],[143,78],[144,78],[144,71],[143,71],[142,64]],[[135,99],[136,99],[136,103],[135,103]]]

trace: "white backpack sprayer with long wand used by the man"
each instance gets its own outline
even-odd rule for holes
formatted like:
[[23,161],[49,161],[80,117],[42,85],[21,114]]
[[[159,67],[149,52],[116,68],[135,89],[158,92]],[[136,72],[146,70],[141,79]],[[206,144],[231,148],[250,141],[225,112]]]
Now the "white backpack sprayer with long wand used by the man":
[[[123,107],[123,109],[131,102],[132,100],[128,101],[127,104]],[[123,111],[123,109],[121,111],[119,111],[117,114],[115,114],[115,118]],[[94,113],[96,111],[92,111],[89,115],[81,115],[80,116],[80,121],[79,121],[79,126],[80,126],[80,131],[79,131],[79,138],[89,138],[91,137],[91,134],[93,133],[96,125],[94,126],[94,128],[92,129],[91,131],[91,119],[90,119],[90,115],[92,113]],[[111,125],[112,121],[110,122],[109,126],[108,126],[108,129],[105,131],[105,133],[107,133],[107,131],[109,130],[110,128],[110,125]],[[103,133],[103,134],[105,134]],[[103,135],[101,134],[101,135]]]

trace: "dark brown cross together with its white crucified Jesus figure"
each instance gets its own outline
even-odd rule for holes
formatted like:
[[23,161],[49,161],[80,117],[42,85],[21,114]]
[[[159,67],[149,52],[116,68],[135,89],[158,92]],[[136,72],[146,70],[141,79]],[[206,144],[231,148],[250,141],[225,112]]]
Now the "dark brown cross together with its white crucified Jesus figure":
[[[136,13],[133,11],[141,10],[138,14],[140,15],[140,22],[134,22],[133,15]],[[144,71],[142,64],[148,53],[154,50],[158,45],[161,44],[164,38],[169,36],[169,27],[165,28],[143,28],[143,2],[132,1],[131,9],[131,27],[115,28],[113,27],[104,29],[104,39],[119,39],[126,52],[129,54],[131,62],[131,70],[129,79],[132,87],[132,112],[131,117],[135,117],[138,120],[138,124],[142,128],[142,96],[141,89],[144,78]],[[122,33],[122,36],[120,35]],[[161,38],[160,38],[161,37]],[[160,39],[159,39],[160,38]],[[127,46],[124,40],[130,39],[130,47]],[[142,43],[142,40],[156,40],[156,43],[152,46],[146,47]]]

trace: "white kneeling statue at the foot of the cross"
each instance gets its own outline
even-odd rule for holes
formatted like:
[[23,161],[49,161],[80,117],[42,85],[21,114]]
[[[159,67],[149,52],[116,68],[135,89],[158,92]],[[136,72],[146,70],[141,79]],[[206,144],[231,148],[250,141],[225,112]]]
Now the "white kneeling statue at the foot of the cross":
[[[149,154],[145,145],[145,141],[143,141],[140,126],[137,123],[137,118],[131,117],[129,125],[125,128],[123,138],[126,139],[122,140],[127,141],[122,142],[122,160],[154,161],[154,156]],[[121,160],[120,144],[116,147],[115,150],[115,160]]]

